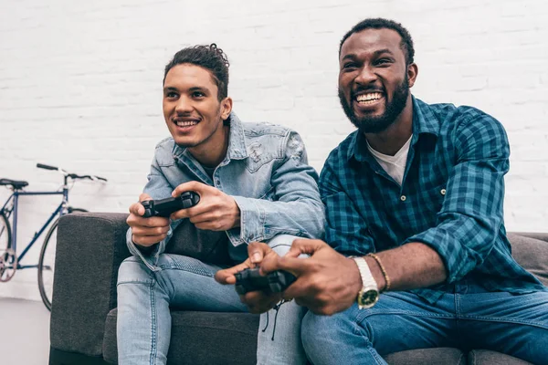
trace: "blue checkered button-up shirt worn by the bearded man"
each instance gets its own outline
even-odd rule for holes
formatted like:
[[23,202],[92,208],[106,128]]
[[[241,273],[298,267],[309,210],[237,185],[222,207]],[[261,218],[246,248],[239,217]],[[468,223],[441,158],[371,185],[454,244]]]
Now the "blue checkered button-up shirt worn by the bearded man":
[[463,279],[490,291],[544,290],[511,257],[506,238],[503,176],[510,148],[501,123],[471,107],[413,103],[402,186],[357,131],[331,152],[320,177],[326,242],[345,255],[429,245],[448,270],[446,283],[414,290],[430,303]]

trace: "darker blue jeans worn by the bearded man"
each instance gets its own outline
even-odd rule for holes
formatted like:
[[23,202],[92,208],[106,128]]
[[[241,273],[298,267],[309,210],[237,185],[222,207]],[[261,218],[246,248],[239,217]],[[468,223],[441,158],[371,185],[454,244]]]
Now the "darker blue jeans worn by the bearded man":
[[382,294],[373,308],[357,305],[332,317],[308,312],[302,344],[314,365],[386,364],[406,349],[492,349],[534,364],[548,359],[548,292],[512,295],[455,285],[430,305],[410,292]]

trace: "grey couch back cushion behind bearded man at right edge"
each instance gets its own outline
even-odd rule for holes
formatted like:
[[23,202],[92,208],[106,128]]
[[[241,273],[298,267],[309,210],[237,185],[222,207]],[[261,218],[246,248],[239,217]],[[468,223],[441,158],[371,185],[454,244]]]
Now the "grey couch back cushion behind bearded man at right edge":
[[548,242],[519,234],[508,234],[508,239],[518,264],[548,286]]

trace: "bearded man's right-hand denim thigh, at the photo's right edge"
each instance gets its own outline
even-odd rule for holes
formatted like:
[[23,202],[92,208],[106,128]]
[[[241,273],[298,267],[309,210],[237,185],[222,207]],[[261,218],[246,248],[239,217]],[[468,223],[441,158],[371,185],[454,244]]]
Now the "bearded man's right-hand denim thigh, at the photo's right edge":
[[535,364],[548,360],[548,293],[458,296],[465,347],[492,349]]

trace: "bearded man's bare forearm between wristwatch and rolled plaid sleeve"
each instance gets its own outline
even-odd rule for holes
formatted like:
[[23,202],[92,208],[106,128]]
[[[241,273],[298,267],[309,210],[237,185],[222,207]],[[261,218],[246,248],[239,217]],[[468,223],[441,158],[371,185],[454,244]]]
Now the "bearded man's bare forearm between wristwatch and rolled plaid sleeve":
[[[428,245],[414,242],[375,254],[385,267],[390,291],[430,287],[447,278],[441,256]],[[377,286],[385,290],[386,281],[374,257],[365,256]]]

